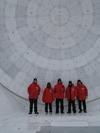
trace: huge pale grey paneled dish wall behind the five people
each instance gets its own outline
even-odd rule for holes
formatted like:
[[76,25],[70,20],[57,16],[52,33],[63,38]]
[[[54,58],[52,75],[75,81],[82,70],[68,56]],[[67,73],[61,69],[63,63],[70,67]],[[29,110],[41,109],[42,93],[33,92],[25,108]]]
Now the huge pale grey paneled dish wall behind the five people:
[[99,18],[100,0],[0,0],[0,83],[27,98],[34,77],[81,79],[100,97]]

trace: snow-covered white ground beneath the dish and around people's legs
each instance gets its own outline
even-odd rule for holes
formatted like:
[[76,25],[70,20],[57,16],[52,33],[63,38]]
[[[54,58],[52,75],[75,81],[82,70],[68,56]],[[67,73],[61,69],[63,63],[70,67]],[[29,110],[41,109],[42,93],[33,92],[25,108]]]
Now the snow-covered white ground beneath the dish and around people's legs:
[[41,126],[100,126],[100,100],[87,104],[87,114],[46,115],[44,106],[39,105],[39,115],[28,114],[28,102],[9,93],[0,86],[0,132],[35,133]]

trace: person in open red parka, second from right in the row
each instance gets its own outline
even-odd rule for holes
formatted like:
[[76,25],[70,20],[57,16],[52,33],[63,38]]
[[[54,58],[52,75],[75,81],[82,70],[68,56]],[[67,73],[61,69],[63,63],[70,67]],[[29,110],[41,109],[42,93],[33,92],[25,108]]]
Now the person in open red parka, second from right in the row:
[[76,113],[75,100],[77,97],[77,90],[72,81],[69,81],[68,87],[66,88],[66,98],[68,100],[68,112],[71,113],[71,104],[73,107],[73,113]]

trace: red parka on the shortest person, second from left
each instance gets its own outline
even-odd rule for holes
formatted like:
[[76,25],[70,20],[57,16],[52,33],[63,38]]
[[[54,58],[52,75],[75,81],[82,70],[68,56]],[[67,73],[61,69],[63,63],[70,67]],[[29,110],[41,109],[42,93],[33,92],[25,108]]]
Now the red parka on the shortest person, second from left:
[[54,94],[52,88],[45,88],[43,91],[42,101],[44,103],[52,103],[54,100]]

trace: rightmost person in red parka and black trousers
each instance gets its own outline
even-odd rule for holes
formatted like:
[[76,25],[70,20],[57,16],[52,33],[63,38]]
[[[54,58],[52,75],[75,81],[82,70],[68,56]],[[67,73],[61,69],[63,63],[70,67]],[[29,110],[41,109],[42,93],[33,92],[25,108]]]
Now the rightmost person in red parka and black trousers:
[[86,111],[86,99],[87,98],[88,98],[88,89],[81,82],[81,80],[78,80],[77,81],[77,99],[78,99],[78,105],[79,105],[79,113],[82,112],[82,104],[83,104],[84,113],[87,113]]

